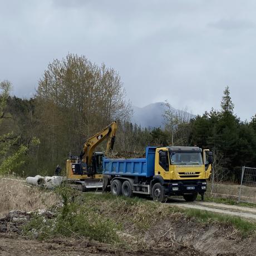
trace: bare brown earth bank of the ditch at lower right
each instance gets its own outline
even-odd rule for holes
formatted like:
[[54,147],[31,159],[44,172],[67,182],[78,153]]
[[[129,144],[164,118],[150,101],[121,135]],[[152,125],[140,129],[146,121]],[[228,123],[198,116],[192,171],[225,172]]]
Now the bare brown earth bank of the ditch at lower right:
[[196,223],[193,218],[166,218],[152,228],[154,233],[149,230],[145,233],[145,239],[161,237],[160,242],[164,242],[166,233],[171,229],[176,243],[193,245],[199,252],[207,255],[255,255],[256,237],[252,235],[243,238],[237,230],[230,225],[218,223]]

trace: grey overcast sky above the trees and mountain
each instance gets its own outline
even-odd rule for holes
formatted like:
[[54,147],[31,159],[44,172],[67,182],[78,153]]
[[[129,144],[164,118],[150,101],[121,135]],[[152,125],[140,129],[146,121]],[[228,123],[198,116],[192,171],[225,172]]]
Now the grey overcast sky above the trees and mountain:
[[68,52],[115,68],[135,106],[168,100],[202,114],[225,86],[256,113],[256,1],[0,0],[0,81],[30,97]]

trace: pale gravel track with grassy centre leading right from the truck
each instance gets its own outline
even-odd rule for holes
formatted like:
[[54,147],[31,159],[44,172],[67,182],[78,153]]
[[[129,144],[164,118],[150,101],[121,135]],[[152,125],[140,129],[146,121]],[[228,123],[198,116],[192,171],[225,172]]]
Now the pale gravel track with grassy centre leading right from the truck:
[[189,203],[183,199],[171,199],[168,201],[168,203],[171,205],[179,206],[181,208],[199,209],[211,211],[213,213],[228,214],[245,219],[256,220],[256,208],[219,203],[217,204],[205,201],[194,201]]

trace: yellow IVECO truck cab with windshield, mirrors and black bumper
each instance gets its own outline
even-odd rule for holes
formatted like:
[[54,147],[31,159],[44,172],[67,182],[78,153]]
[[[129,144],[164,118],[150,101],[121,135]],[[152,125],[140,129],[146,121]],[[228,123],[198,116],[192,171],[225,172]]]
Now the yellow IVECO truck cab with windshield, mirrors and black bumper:
[[[194,201],[198,193],[203,198],[206,179],[211,175],[212,155],[208,149],[199,147],[157,148],[154,178],[160,181],[164,194],[183,195],[186,201]],[[154,194],[154,191],[152,197],[161,200],[161,193]]]

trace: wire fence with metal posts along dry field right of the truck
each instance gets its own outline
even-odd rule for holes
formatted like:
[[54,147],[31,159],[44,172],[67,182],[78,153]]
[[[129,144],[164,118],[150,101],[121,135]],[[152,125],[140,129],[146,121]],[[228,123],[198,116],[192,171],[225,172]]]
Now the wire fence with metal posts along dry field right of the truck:
[[240,177],[240,183],[237,184],[216,181],[213,169],[206,195],[256,204],[256,168],[243,166]]

